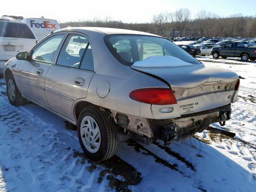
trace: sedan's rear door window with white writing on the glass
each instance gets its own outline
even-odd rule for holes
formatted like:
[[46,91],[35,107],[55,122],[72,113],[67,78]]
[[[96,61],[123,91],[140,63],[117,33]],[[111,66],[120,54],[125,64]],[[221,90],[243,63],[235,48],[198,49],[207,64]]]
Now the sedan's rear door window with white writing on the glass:
[[80,61],[88,46],[89,41],[85,37],[69,34],[60,50],[56,65],[79,68]]

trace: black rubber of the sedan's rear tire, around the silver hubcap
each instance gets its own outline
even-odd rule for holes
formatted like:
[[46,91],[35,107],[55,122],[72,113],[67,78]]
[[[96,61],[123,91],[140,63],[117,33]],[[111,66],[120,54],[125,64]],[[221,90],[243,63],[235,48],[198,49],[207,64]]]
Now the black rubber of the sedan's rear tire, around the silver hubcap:
[[[100,148],[95,153],[89,152],[82,141],[82,138],[85,138],[86,136],[85,134],[84,136],[81,135],[81,123],[83,118],[86,116],[94,118],[100,129]],[[112,128],[112,125],[110,124],[110,120],[108,119],[106,112],[100,110],[96,106],[89,106],[82,110],[78,118],[77,133],[82,150],[86,156],[94,161],[103,161],[111,158],[115,154],[119,145],[119,140]]]

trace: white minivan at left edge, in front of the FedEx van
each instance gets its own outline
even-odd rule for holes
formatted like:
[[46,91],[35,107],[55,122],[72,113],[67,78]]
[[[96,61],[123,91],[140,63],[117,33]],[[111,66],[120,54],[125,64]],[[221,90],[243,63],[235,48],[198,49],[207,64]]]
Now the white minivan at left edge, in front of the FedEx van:
[[37,39],[26,23],[0,16],[0,74],[4,64],[21,51],[30,51]]

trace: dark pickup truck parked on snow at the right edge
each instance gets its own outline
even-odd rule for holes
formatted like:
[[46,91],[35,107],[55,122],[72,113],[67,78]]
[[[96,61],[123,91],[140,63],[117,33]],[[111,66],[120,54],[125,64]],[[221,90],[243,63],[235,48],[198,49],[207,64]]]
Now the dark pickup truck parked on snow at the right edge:
[[256,47],[245,47],[241,42],[230,42],[222,47],[214,47],[211,50],[212,57],[218,59],[220,56],[224,59],[227,57],[240,57],[242,61],[256,60]]

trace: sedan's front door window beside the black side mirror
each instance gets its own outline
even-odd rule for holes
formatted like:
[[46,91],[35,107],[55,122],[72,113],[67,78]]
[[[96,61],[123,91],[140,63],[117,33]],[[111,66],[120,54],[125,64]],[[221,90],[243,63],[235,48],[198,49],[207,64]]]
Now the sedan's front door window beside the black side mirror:
[[32,54],[32,59],[39,62],[52,63],[56,50],[65,34],[54,35],[38,45]]

